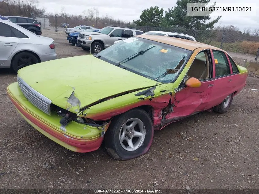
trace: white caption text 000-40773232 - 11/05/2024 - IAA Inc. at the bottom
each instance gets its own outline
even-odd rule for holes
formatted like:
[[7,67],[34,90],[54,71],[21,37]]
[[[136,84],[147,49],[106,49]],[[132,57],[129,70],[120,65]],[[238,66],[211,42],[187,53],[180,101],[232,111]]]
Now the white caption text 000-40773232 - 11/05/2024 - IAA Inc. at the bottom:
[[159,189],[94,189],[94,193],[162,193]]

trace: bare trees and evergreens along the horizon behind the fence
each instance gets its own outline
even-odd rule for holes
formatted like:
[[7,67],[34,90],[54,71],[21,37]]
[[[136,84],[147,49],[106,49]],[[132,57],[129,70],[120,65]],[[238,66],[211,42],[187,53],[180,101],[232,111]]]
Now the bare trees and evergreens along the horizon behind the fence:
[[[185,28],[195,30],[218,30],[223,31],[235,31],[238,33],[246,34],[247,36],[259,36],[259,28],[251,29],[247,28],[240,31],[238,27],[234,25],[222,26],[218,16],[216,19],[211,20],[209,14],[206,16],[188,16],[187,15],[187,3],[210,3],[210,0],[177,0],[174,7],[164,10],[158,6],[151,6],[148,9],[142,11],[139,19],[130,21],[123,21],[115,19],[106,13],[104,16],[100,16],[98,8],[90,8],[83,10],[81,14],[70,14],[66,11],[65,7],[61,7],[60,11],[54,13],[46,12],[45,8],[38,6],[37,0],[2,0],[0,2],[0,13],[3,16],[6,15],[18,15],[24,17],[31,17],[31,13],[35,15],[46,15],[50,17],[66,17],[71,19],[88,20],[113,25],[136,25],[136,26],[153,26],[153,27],[165,27],[165,28]],[[214,6],[215,2],[211,5]],[[215,24],[219,22],[219,25],[215,27]]]

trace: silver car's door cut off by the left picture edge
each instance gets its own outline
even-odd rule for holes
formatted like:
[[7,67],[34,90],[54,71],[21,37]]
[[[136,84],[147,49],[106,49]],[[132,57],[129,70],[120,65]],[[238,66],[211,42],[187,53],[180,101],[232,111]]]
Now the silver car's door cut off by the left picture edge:
[[18,43],[19,39],[14,37],[9,26],[0,22],[0,65],[6,62]]

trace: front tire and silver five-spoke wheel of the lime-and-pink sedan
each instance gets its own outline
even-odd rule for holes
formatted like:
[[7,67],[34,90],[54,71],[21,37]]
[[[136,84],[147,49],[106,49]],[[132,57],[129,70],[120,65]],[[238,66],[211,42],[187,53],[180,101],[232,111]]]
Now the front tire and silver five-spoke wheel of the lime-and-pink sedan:
[[117,160],[129,160],[146,154],[154,129],[146,111],[135,108],[112,119],[105,134],[105,148]]

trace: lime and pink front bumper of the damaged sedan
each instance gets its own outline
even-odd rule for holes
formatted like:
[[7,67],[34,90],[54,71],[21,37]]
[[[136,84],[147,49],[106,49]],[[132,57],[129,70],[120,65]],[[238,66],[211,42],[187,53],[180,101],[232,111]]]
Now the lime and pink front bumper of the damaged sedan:
[[[75,121],[62,127],[59,123],[61,117],[55,115],[55,112],[49,116],[32,105],[21,92],[17,82],[7,87],[7,93],[21,116],[32,127],[59,145],[75,152],[90,152],[101,146],[104,138],[101,137],[101,130],[97,127],[86,126]],[[105,131],[109,124],[105,125]]]

